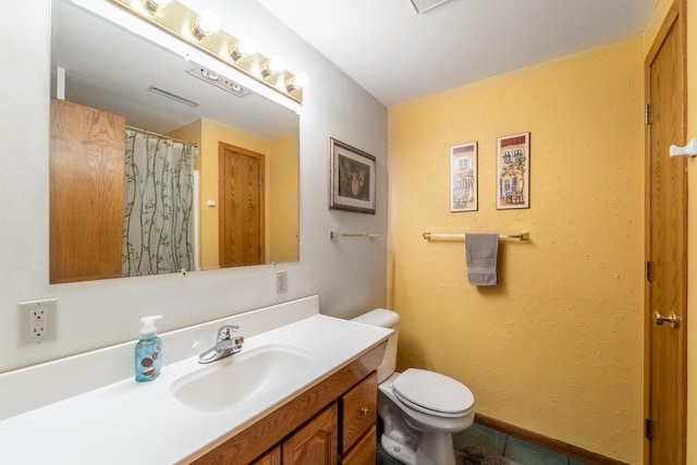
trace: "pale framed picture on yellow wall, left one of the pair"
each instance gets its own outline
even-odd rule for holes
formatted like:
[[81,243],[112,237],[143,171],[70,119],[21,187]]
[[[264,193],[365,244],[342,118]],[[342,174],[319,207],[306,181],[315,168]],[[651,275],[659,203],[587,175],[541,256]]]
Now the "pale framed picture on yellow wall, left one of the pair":
[[477,210],[477,143],[450,147],[450,211]]

